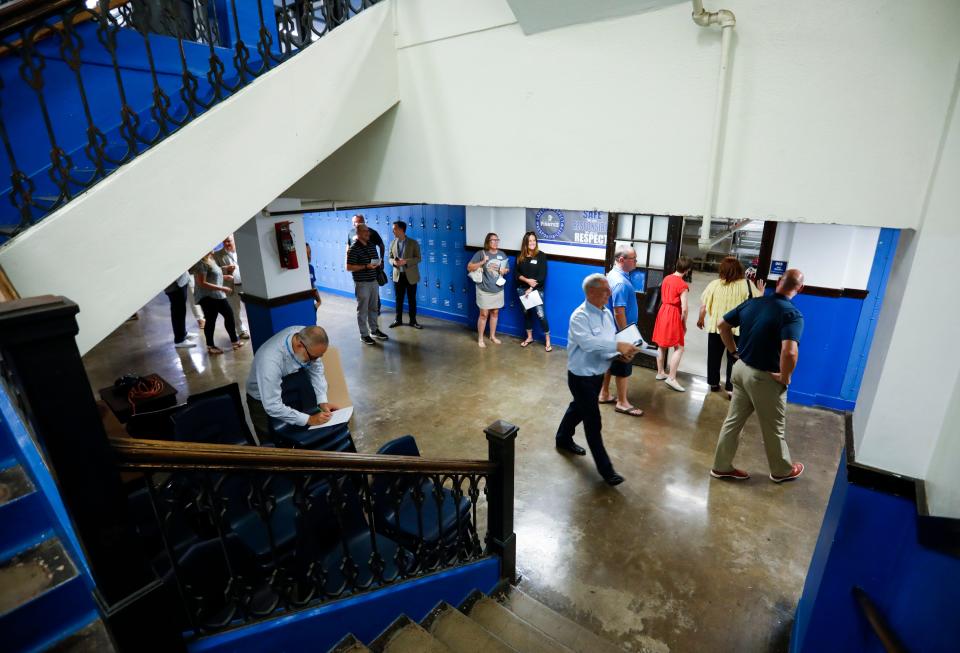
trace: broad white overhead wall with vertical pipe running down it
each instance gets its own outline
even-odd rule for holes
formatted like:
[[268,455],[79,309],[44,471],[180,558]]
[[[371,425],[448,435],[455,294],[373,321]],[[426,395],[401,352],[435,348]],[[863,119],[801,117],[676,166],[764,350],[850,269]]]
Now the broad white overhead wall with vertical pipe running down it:
[[[719,34],[688,4],[527,36],[498,26],[503,0],[450,3],[398,1],[401,104],[291,195],[700,214]],[[960,3],[723,5],[738,23],[716,213],[915,227]]]

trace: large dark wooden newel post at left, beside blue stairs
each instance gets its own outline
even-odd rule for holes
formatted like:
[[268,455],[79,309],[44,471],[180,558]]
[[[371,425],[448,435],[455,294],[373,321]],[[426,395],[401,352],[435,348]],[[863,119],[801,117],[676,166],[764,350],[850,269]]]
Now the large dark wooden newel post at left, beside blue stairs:
[[77,349],[76,304],[0,303],[0,356],[52,467],[121,651],[183,651],[176,610],[126,516],[126,493]]

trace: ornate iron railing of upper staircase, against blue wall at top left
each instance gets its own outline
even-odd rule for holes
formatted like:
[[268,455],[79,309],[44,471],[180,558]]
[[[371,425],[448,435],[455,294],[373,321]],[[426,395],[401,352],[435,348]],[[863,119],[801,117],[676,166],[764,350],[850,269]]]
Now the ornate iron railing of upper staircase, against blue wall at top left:
[[0,240],[377,1],[0,5]]

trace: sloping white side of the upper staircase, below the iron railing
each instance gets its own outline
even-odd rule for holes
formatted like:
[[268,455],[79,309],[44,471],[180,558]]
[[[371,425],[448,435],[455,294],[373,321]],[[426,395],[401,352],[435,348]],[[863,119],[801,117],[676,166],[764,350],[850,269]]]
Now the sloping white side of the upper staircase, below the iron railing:
[[89,350],[397,102],[390,18],[389,2],[352,18],[4,245],[14,286],[79,304]]

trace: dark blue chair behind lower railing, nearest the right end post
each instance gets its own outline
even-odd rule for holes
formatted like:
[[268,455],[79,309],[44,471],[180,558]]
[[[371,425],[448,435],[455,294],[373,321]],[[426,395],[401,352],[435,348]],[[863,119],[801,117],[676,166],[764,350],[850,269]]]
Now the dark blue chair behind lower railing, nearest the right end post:
[[[386,443],[377,453],[419,457],[420,449],[412,435],[404,435]],[[455,549],[458,537],[470,525],[470,501],[464,496],[458,502],[453,491],[447,488],[441,488],[438,500],[433,481],[424,479],[419,483],[423,500],[418,517],[415,478],[401,474],[375,477],[373,496],[377,530],[411,550],[416,548],[419,541],[435,547],[443,545]],[[451,552],[453,554],[455,550]]]

